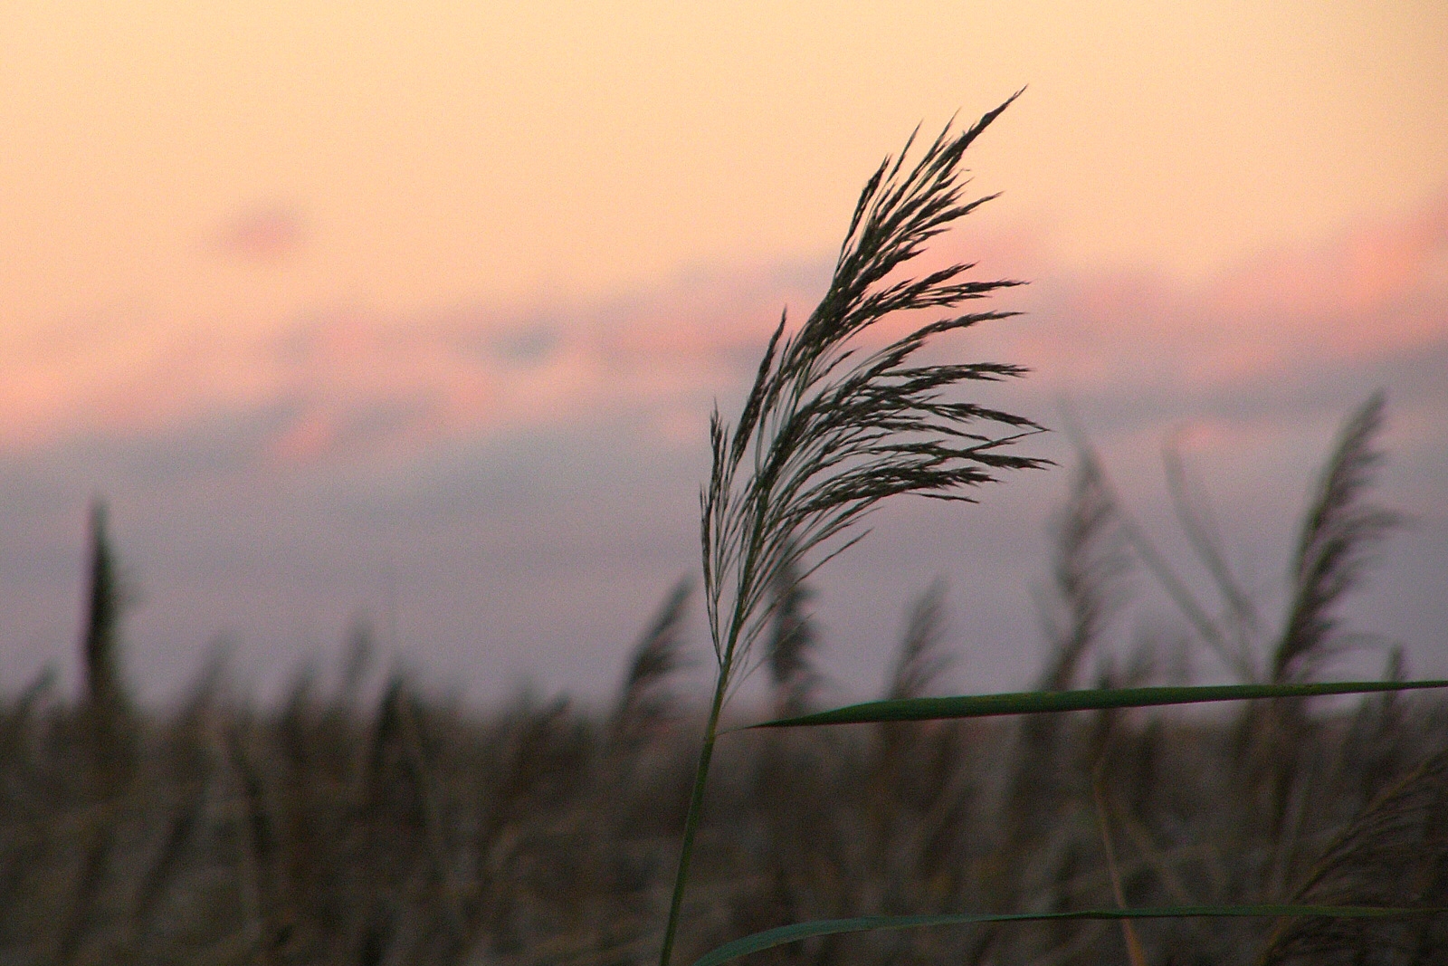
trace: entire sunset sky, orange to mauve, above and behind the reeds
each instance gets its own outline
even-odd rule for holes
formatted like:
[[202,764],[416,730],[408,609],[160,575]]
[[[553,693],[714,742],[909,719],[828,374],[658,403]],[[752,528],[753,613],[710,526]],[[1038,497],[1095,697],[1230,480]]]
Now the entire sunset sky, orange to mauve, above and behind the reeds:
[[[950,350],[1031,366],[992,401],[1079,423],[1200,582],[1173,442],[1270,614],[1335,427],[1384,390],[1410,524],[1350,623],[1448,673],[1445,48],[1429,1],[13,0],[0,692],[74,684],[104,497],[149,698],[219,647],[275,692],[361,618],[473,700],[605,697],[696,572],[708,413],[812,307],[864,178],[1022,87],[967,156],[1001,197],[927,258],[1030,280],[999,297],[1024,314]],[[1031,446],[1061,468],[889,507],[820,575],[834,694],[879,688],[937,576],[953,684],[1030,679],[1073,459]],[[1179,636],[1134,587],[1116,636]]]

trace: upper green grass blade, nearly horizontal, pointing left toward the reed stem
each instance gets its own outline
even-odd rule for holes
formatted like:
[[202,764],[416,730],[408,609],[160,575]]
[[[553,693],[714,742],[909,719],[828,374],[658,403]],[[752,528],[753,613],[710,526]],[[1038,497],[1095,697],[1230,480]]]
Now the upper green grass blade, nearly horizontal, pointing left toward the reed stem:
[[[1169,704],[1251,701],[1260,698],[1318,698],[1332,694],[1376,694],[1448,688],[1448,681],[1334,681],[1322,684],[1226,684],[1166,688],[1095,688],[1082,691],[1018,691],[1009,694],[953,698],[902,698],[867,701],[833,711],[776,718],[752,728],[783,728],[812,724],[866,724],[880,721],[937,721],[943,718],[986,718],[1003,714],[1047,714],[1054,711],[1102,711],[1106,708],[1153,708]],[[736,728],[743,730],[743,728]]]

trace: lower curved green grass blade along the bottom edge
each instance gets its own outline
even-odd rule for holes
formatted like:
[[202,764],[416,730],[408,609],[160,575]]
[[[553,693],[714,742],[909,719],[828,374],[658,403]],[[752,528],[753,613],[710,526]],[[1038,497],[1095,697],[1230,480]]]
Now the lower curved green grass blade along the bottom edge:
[[946,912],[940,915],[862,915],[849,920],[812,920],[765,930],[718,946],[692,966],[720,966],[740,956],[796,943],[814,936],[902,930],[924,925],[973,925],[986,923],[1048,923],[1063,920],[1179,920],[1179,918],[1402,918],[1435,915],[1448,910],[1386,908],[1374,905],[1169,905],[1140,910],[1080,910],[1074,912]]

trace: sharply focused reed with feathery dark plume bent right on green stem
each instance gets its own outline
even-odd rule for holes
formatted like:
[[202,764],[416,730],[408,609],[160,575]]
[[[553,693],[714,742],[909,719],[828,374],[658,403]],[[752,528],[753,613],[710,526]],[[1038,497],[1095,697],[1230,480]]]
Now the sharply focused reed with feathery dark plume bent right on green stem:
[[[775,329],[738,423],[730,429],[715,407],[710,423],[712,472],[699,495],[704,597],[717,660],[714,695],[699,747],[660,966],[669,966],[689,860],[704,808],[720,713],[752,669],[782,584],[798,584],[864,534],[849,530],[882,500],[918,494],[973,503],[969,488],[995,472],[1048,461],[1002,452],[1043,429],[1030,419],[975,403],[951,391],[970,381],[999,381],[1024,368],[998,362],[930,365],[915,355],[935,336],[1006,319],[979,311],[927,323],[885,348],[859,336],[886,317],[950,310],[1018,285],[966,281],[972,264],[921,278],[898,269],[957,219],[995,196],[961,200],[960,161],[975,139],[1019,96],[963,132],[953,123],[906,168],[915,135],[886,158],[860,193],[830,287],[798,332],[786,316]],[[918,133],[918,132],[917,132]],[[977,424],[1006,427],[983,433]],[[805,565],[805,558],[818,559]]]

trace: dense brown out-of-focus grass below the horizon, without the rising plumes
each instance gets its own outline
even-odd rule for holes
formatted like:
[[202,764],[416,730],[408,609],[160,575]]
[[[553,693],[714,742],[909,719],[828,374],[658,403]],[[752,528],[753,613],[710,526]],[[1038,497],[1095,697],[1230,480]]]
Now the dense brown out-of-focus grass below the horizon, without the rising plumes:
[[[1303,802],[1290,837],[1245,768],[1247,717],[1083,713],[1054,723],[1045,752],[1008,720],[731,734],[679,952],[802,920],[1111,907],[1098,762],[1134,907],[1286,901],[1299,886],[1384,904],[1442,888],[1448,705],[1374,697],[1305,715],[1281,752]],[[365,707],[306,686],[268,711],[200,694],[168,718],[135,717],[119,775],[91,727],[46,692],[0,715],[0,962],[656,953],[696,728],[676,708],[620,743],[617,721],[566,702],[479,715],[403,681]],[[1364,812],[1405,775],[1389,811],[1393,794],[1410,808]],[[1368,831],[1334,846],[1360,812]],[[1137,928],[1156,963],[1245,963],[1273,924]],[[1109,923],[821,937],[765,960],[1125,962]]]

